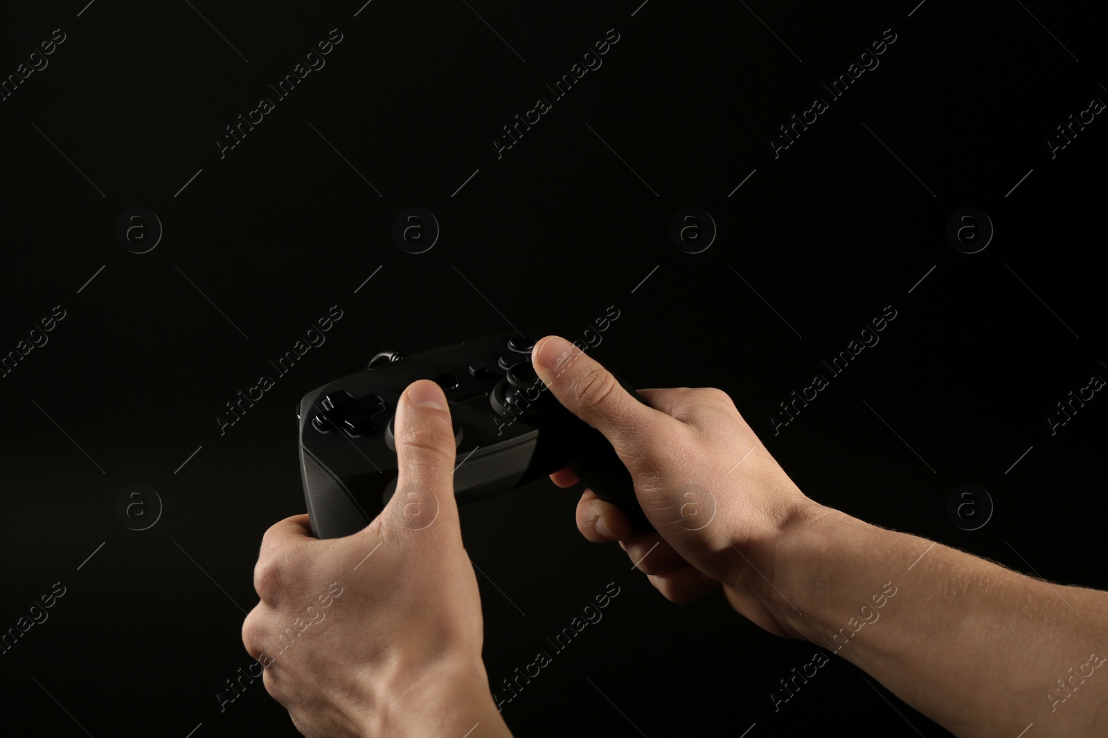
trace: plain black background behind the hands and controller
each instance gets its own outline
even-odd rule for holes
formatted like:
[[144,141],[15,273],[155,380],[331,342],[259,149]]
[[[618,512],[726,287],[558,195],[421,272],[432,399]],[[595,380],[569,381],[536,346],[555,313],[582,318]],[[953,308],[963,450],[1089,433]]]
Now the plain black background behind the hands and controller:
[[[54,582],[66,588],[0,656],[8,725],[297,735],[260,679],[223,711],[216,698],[250,663],[239,630],[257,602],[260,537],[304,509],[294,405],[382,349],[416,353],[507,321],[581,339],[608,305],[619,318],[597,357],[639,387],[726,389],[815,500],[1108,586],[1108,399],[1098,393],[1056,435],[1046,420],[1108,376],[1108,123],[1098,115],[1055,158],[1046,143],[1108,98],[1092,11],[639,3],[79,0],[0,12],[4,77],[53,29],[66,37],[0,102],[0,352],[65,311],[0,381],[0,628]],[[497,158],[501,126],[553,97],[544,84],[613,28],[603,66]],[[267,84],[331,29],[342,41],[326,66],[220,158],[224,126],[276,97]],[[896,41],[880,66],[774,158],[778,126],[828,98],[821,83],[885,29]],[[424,253],[391,237],[410,206],[441,226]],[[164,227],[147,253],[115,238],[131,207]],[[700,253],[668,236],[686,207],[718,227]],[[963,207],[995,227],[977,253],[945,235]],[[326,344],[220,435],[224,404],[336,304]],[[774,436],[778,403],[885,305],[896,318],[880,343]],[[116,516],[131,484],[164,505],[147,530]],[[963,484],[995,503],[976,531],[946,514]],[[494,685],[608,582],[622,588],[504,706],[515,735],[686,735],[711,721],[736,736],[753,726],[752,738],[947,735],[834,658],[774,711],[770,692],[815,647],[761,632],[719,596],[665,601],[616,545],[577,533],[578,495],[544,480],[462,510]]]

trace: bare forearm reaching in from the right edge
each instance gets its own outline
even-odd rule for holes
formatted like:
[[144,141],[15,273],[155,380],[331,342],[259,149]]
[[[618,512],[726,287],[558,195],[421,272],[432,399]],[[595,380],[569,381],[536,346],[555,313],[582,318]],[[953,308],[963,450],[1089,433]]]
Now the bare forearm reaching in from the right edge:
[[818,506],[746,555],[761,574],[743,571],[740,585],[784,631],[960,737],[1016,736],[1033,721],[1037,736],[1108,725],[1108,593]]

